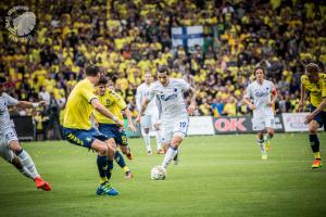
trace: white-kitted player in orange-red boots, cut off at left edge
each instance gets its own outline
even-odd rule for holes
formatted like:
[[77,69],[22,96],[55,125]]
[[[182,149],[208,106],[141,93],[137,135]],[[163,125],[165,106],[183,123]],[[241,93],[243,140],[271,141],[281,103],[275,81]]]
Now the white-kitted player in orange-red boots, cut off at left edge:
[[37,189],[50,191],[50,184],[38,174],[29,154],[20,144],[14,123],[10,119],[8,106],[38,107],[46,102],[17,101],[4,92],[5,78],[0,77],[0,156],[14,165],[21,174],[35,181]]

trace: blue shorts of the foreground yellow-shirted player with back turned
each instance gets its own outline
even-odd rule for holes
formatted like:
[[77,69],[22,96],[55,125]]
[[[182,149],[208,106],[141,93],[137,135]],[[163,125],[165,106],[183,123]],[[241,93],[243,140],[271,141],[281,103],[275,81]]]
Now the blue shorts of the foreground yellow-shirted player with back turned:
[[68,142],[88,149],[91,148],[91,144],[96,139],[101,141],[105,141],[109,139],[108,137],[105,137],[104,135],[96,130],[95,128],[90,128],[89,130],[86,130],[86,129],[72,129],[72,128],[63,127],[62,131],[64,138]]

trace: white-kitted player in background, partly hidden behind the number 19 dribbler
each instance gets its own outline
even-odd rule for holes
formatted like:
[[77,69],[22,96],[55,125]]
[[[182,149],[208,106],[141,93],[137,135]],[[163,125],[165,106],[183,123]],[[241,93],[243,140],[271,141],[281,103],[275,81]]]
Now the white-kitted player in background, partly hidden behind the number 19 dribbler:
[[[142,103],[143,99],[147,97],[148,91],[151,87],[151,84],[152,84],[152,75],[151,75],[151,73],[148,72],[145,74],[145,82],[141,84],[137,88],[136,104],[137,104],[138,111],[140,111],[141,103]],[[141,117],[141,122],[140,122],[141,135],[145,140],[145,144],[146,144],[148,154],[152,153],[151,140],[150,140],[150,135],[149,135],[150,129],[153,129],[155,131],[158,154],[164,154],[164,151],[162,150],[162,146],[161,146],[160,125],[161,125],[161,123],[159,119],[159,110],[158,110],[158,106],[155,103],[155,99],[153,99],[148,104],[148,107],[145,111],[143,116]]]

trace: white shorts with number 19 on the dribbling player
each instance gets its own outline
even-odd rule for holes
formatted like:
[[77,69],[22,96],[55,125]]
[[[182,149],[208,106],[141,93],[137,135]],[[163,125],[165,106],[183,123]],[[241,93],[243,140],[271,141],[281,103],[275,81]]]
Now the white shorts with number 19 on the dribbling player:
[[174,119],[162,119],[162,142],[171,142],[175,133],[186,137],[188,133],[189,117],[176,117]]

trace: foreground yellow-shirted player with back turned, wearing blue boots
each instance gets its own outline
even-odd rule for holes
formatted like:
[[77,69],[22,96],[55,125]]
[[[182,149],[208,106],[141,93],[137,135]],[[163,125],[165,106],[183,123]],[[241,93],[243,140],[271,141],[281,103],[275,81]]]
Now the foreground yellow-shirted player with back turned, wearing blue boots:
[[67,99],[63,119],[63,135],[68,142],[95,150],[98,153],[97,164],[101,183],[96,193],[98,195],[116,195],[118,192],[111,187],[106,178],[106,175],[111,173],[110,168],[113,167],[115,144],[92,128],[89,118],[92,111],[96,110],[105,117],[112,118],[120,126],[123,126],[123,123],[112,115],[93,93],[99,79],[100,68],[96,65],[87,66],[86,78],[75,86]]

